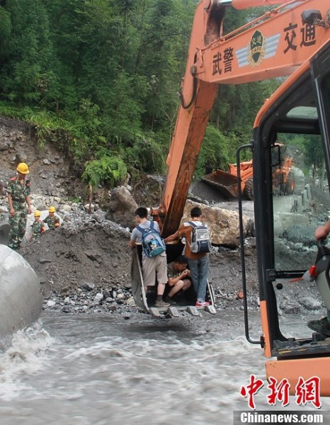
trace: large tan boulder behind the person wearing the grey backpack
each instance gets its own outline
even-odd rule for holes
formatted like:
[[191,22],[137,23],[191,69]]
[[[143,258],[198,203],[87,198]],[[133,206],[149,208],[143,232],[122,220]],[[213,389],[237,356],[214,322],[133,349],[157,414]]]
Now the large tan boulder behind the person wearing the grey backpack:
[[[190,210],[193,207],[199,207],[203,211],[203,221],[210,229],[212,244],[226,245],[232,248],[239,246],[238,212],[225,210],[224,208],[209,207],[188,199],[183,211],[181,223],[190,220]],[[248,222],[249,218],[243,215],[244,236],[246,236]]]

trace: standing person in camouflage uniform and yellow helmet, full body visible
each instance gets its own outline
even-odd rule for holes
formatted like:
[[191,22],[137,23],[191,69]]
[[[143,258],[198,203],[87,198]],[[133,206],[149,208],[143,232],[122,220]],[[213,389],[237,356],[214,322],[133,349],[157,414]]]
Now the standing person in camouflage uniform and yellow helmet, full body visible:
[[[30,172],[25,162],[18,164],[18,175],[8,183],[7,197],[9,204],[9,234],[8,246],[16,251],[20,249],[23,240],[28,214],[32,213],[30,203],[30,181],[26,179]],[[28,204],[28,211],[25,203]]]

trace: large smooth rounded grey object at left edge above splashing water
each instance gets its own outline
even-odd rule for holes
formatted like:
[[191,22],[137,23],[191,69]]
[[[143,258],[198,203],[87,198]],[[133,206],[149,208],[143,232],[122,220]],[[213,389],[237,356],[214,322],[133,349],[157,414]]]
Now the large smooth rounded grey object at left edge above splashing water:
[[35,322],[42,309],[41,285],[16,251],[0,245],[0,339]]

